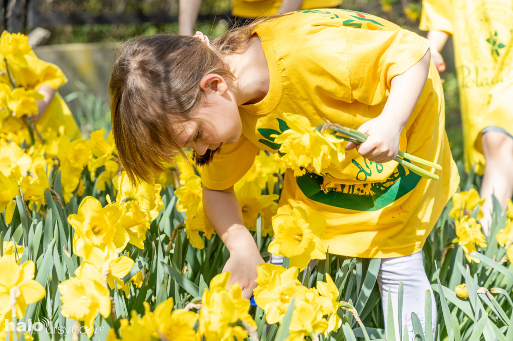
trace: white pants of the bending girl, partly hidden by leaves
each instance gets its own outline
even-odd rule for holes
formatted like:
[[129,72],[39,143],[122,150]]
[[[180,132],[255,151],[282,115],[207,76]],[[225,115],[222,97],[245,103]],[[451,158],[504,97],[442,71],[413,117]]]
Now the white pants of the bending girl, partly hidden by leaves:
[[[282,265],[283,257],[271,254],[269,263]],[[317,260],[310,261],[310,269],[315,266]],[[403,282],[403,313],[401,318],[401,331],[399,329],[398,313],[398,291],[399,283]],[[378,273],[378,285],[380,288],[385,326],[388,318],[388,290],[390,290],[393,320],[395,321],[396,339],[400,339],[400,333],[403,333],[404,326],[408,328],[408,335],[411,340],[415,337],[411,326],[411,313],[414,312],[419,317],[423,329],[425,330],[425,294],[427,290],[431,293],[431,322],[430,327],[433,331],[433,337],[437,326],[437,304],[435,296],[431,291],[431,285],[427,279],[424,264],[422,262],[422,250],[404,257],[386,258],[381,260],[380,271]],[[407,341],[407,340],[403,340]]]

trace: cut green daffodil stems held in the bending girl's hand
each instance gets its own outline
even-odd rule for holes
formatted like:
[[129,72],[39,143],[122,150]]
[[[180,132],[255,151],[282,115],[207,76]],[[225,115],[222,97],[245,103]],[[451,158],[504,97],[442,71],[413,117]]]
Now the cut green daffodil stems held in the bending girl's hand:
[[[339,124],[333,124],[333,123],[325,123],[317,126],[318,131],[324,131],[324,130],[331,130],[333,131],[333,136],[339,139],[343,139],[349,142],[353,142],[356,144],[360,144],[362,142],[365,142],[368,138],[368,135],[362,132],[359,132],[357,130],[339,125]],[[342,134],[342,135],[339,135]],[[413,173],[416,173],[424,178],[432,179],[432,180],[438,180],[438,175],[428,172],[425,169],[412,164],[410,161],[420,163],[422,165],[432,167],[435,169],[441,170],[442,167],[434,162],[424,160],[422,158],[416,157],[415,155],[411,155],[408,153],[405,153],[403,151],[399,151],[397,154],[397,157],[394,159],[394,161],[399,162],[404,167],[408,168]]]

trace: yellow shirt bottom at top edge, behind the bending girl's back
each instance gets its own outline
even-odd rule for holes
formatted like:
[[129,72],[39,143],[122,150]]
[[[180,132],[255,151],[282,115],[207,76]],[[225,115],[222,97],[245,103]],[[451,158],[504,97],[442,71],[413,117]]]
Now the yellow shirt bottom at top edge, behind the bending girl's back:
[[[244,18],[258,18],[278,13],[282,0],[232,0],[232,14]],[[342,0],[304,0],[301,9],[337,7]]]

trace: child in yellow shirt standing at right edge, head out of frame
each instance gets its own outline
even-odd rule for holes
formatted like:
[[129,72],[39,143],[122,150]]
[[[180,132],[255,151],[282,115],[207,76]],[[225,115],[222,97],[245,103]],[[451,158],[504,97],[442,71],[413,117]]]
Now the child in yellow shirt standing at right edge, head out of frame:
[[[420,29],[429,31],[431,58],[449,35],[460,86],[466,171],[483,175],[481,226],[490,234],[492,195],[502,209],[513,195],[513,1],[424,0]],[[486,161],[486,162],[485,162]]]

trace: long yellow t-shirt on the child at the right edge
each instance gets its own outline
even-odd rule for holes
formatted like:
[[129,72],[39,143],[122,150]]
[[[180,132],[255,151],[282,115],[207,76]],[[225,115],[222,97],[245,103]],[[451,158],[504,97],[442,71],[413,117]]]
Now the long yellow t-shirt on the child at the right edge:
[[483,174],[483,128],[513,134],[513,1],[424,0],[420,29],[453,37],[465,165]]

